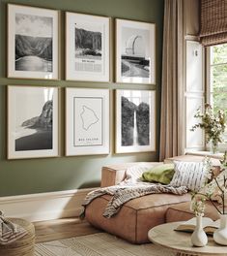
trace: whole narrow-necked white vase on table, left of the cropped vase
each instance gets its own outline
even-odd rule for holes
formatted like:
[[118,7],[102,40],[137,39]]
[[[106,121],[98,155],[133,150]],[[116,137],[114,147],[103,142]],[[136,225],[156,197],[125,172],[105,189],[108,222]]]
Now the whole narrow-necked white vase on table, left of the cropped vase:
[[203,247],[208,243],[208,237],[203,230],[202,221],[202,216],[196,216],[196,227],[191,235],[191,243],[197,247]]

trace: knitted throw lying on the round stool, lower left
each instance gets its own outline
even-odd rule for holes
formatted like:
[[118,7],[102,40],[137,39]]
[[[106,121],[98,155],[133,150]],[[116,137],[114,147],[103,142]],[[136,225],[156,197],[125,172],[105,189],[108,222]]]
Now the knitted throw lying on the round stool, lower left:
[[0,211],[0,244],[5,245],[25,236],[27,231],[4,217]]

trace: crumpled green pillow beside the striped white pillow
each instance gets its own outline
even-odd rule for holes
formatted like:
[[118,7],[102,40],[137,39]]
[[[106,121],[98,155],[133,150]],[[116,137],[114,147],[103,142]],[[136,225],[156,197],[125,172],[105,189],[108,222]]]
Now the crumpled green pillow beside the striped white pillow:
[[144,172],[142,179],[144,181],[155,181],[162,184],[169,184],[174,176],[174,173],[174,164],[157,165],[151,170]]

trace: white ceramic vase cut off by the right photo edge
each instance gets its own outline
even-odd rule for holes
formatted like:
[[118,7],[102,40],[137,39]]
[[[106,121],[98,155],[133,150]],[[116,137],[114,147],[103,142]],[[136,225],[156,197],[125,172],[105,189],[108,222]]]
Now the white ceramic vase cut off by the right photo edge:
[[213,240],[221,245],[227,245],[227,214],[220,215],[220,227],[213,232]]

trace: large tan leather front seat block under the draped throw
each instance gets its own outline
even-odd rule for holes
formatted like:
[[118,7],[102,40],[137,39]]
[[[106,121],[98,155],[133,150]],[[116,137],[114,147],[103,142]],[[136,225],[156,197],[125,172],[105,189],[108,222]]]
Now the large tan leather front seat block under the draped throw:
[[95,199],[86,208],[86,218],[99,229],[133,243],[148,242],[148,231],[165,222],[166,209],[190,200],[189,194],[153,194],[133,199],[125,204],[113,217],[102,216],[110,196]]

